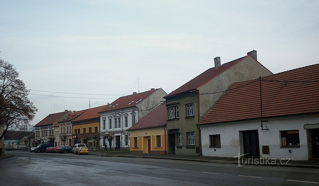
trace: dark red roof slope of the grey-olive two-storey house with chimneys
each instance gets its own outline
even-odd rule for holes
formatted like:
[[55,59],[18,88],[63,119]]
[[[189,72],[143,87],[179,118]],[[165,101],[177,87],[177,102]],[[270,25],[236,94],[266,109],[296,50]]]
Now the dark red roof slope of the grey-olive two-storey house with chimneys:
[[224,71],[226,71],[230,67],[239,63],[241,60],[245,59],[246,57],[247,56],[244,56],[244,57],[235,59],[234,61],[224,63],[218,68],[215,68],[215,67],[210,68],[210,69],[204,71],[203,73],[199,74],[197,77],[193,78],[189,82],[185,83],[184,85],[182,85],[178,89],[176,89],[173,92],[169,93],[168,95],[164,96],[164,98],[174,96],[174,95],[186,92],[186,91],[197,89],[197,88],[201,87],[202,85],[204,85],[205,83],[207,83],[208,81],[210,81],[211,79],[217,77],[219,74],[223,73]]

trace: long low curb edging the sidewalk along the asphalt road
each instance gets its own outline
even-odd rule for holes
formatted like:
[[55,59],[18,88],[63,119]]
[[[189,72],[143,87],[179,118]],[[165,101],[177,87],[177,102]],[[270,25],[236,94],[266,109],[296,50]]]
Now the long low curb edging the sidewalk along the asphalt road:
[[[100,155],[102,157],[119,157],[119,158],[149,158],[149,159],[162,159],[162,160],[180,160],[180,161],[196,161],[205,163],[222,163],[222,164],[238,164],[237,161],[223,161],[223,160],[197,160],[197,159],[186,159],[186,158],[166,158],[166,157],[153,157],[153,156],[123,156],[123,155]],[[276,167],[298,167],[298,168],[319,168],[318,165],[281,165],[281,164],[248,164],[248,165],[259,165],[259,166],[276,166]]]

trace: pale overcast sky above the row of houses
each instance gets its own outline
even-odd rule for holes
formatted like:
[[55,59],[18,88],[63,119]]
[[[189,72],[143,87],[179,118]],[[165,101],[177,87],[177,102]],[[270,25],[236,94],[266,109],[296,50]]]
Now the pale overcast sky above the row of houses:
[[216,56],[223,64],[254,49],[273,73],[319,63],[318,9],[317,0],[0,0],[1,58],[31,94],[80,97],[30,94],[34,125],[89,102],[170,93],[214,67]]

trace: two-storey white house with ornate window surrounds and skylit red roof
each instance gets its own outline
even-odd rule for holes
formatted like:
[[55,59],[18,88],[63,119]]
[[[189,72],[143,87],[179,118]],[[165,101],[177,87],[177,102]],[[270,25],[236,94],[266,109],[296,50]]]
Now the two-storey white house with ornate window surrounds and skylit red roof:
[[[127,129],[147,115],[162,100],[167,93],[162,89],[123,96],[100,111],[100,136],[113,137],[111,145],[115,149],[130,149],[130,140]],[[105,139],[100,139],[105,144]]]

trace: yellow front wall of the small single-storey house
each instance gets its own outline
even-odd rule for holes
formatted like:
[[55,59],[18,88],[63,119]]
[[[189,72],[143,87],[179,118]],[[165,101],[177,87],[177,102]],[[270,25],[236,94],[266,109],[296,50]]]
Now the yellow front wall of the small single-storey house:
[[[161,147],[155,147],[155,136],[161,135]],[[136,153],[136,151],[142,151],[139,153],[148,153],[148,139],[151,138],[151,153],[154,154],[165,154],[166,149],[166,140],[165,140],[165,130],[163,127],[154,127],[154,128],[146,128],[146,129],[138,129],[138,130],[129,130],[130,137],[130,151],[131,153]],[[141,139],[138,141],[138,148],[134,147],[133,137],[138,137]]]

